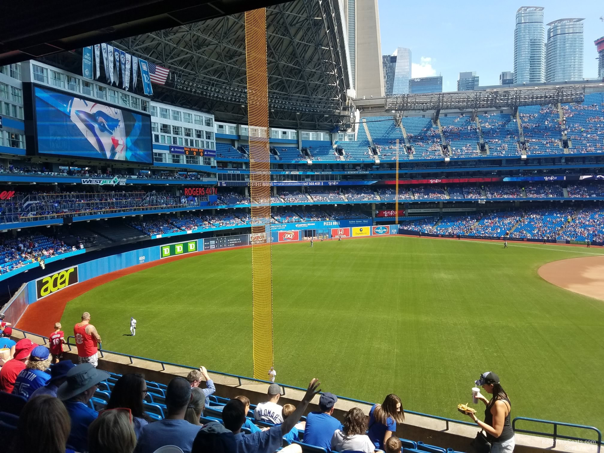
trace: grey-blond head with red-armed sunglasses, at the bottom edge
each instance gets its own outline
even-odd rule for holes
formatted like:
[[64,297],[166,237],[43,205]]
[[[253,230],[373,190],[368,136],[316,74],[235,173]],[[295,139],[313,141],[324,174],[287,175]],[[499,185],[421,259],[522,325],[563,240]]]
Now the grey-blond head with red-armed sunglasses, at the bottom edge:
[[88,453],[132,453],[136,446],[129,408],[101,411],[88,428]]

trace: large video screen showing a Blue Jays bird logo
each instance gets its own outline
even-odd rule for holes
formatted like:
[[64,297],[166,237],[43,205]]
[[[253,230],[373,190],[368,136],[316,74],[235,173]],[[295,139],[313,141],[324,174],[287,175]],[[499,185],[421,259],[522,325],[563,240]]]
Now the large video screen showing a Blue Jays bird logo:
[[34,91],[39,153],[152,162],[150,117],[38,86]]

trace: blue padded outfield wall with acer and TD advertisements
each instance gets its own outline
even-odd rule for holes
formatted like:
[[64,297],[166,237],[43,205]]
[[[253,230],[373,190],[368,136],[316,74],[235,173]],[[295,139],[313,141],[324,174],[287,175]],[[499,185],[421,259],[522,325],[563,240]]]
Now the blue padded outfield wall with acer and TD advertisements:
[[[359,223],[361,224],[360,226]],[[273,226],[277,226],[279,229],[272,231],[272,242],[301,240],[303,238],[302,232],[304,230],[322,230],[332,239],[335,239],[336,237],[385,236],[389,234],[398,234],[399,232],[399,225],[371,225],[371,219],[284,223],[282,225]],[[131,266],[149,263],[167,257],[203,250],[228,249],[248,244],[249,234],[205,237],[192,240],[187,240],[187,237],[185,236],[180,242],[141,248],[80,263],[79,265],[69,266],[68,268],[60,269],[59,271],[25,283],[19,291],[14,294],[4,308],[4,311],[7,312],[7,316],[9,316],[11,320],[17,321],[21,318],[21,315],[25,312],[25,308],[27,308],[29,304],[33,304],[47,295],[54,294],[67,286],[71,286],[71,284],[77,284],[98,277],[99,275],[120,271],[121,269],[130,268]],[[72,254],[82,254],[84,252],[85,250],[79,250],[77,252],[72,252]],[[65,255],[59,255],[57,259],[64,256]],[[37,266],[38,264],[35,263],[35,265]],[[19,268],[21,271],[26,269],[27,266]]]

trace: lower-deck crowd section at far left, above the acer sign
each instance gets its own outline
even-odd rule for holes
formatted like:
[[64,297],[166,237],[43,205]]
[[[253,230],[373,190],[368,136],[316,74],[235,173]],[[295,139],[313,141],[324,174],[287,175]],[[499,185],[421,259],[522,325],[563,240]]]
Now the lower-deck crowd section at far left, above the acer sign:
[[0,274],[14,271],[14,269],[34,262],[43,263],[50,257],[75,250],[77,250],[76,246],[66,245],[62,240],[42,234],[5,236],[0,246]]

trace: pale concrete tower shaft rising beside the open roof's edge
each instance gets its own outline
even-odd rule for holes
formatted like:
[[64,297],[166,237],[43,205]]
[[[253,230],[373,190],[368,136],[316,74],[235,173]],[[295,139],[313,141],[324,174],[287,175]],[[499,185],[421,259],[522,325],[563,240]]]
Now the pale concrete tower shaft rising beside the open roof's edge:
[[350,72],[356,97],[384,95],[377,0],[344,0]]

